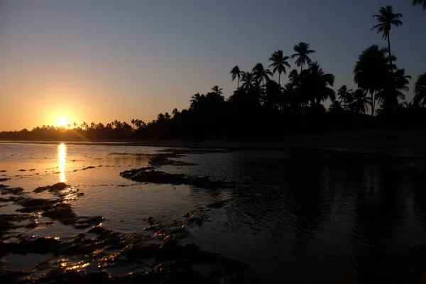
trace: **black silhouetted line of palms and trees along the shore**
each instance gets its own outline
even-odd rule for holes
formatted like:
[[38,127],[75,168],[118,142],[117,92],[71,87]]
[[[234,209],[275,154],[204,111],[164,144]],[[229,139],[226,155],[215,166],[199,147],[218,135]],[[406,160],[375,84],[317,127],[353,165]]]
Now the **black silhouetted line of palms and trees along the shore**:
[[[422,5],[425,0],[413,1]],[[122,138],[237,138],[281,136],[287,133],[312,133],[367,128],[418,128],[426,118],[426,72],[417,77],[415,96],[405,102],[410,75],[396,65],[391,53],[391,28],[403,26],[403,15],[392,6],[381,7],[373,26],[386,40],[387,47],[371,45],[361,52],[354,67],[356,89],[342,86],[334,92],[334,75],[312,60],[315,50],[300,42],[293,54],[277,50],[266,67],[257,63],[243,71],[236,65],[231,80],[236,90],[225,99],[222,88],[212,87],[207,94],[194,94],[187,109],[158,114],[148,123],[76,123],[65,127],[42,126],[31,131],[3,131],[6,139],[122,139]],[[290,60],[297,68],[290,70]],[[271,68],[271,69],[269,69]],[[278,82],[272,79],[278,74]],[[288,82],[281,85],[281,77]],[[325,109],[324,102],[331,102]],[[368,113],[368,114],[367,114]]]

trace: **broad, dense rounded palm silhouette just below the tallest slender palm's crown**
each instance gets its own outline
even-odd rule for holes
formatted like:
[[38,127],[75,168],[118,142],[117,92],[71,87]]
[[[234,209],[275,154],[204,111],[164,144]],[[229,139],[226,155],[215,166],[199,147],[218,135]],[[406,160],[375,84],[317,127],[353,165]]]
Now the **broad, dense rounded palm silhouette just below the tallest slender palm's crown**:
[[378,48],[378,45],[371,45],[366,48],[354,68],[354,82],[358,87],[365,89],[371,94],[371,115],[374,115],[376,106],[376,92],[386,86],[389,76],[388,49]]

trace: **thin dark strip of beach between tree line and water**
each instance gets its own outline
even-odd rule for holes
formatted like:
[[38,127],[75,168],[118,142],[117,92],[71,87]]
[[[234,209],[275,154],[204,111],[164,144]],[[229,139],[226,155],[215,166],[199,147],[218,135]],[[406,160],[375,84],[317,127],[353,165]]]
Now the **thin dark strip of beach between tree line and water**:
[[230,150],[269,150],[281,151],[289,148],[342,148],[389,151],[408,149],[426,151],[426,131],[350,131],[304,135],[291,135],[279,138],[244,138],[218,140],[110,140],[110,141],[13,141],[0,143],[37,143],[96,146],[151,146],[173,148],[221,148]]

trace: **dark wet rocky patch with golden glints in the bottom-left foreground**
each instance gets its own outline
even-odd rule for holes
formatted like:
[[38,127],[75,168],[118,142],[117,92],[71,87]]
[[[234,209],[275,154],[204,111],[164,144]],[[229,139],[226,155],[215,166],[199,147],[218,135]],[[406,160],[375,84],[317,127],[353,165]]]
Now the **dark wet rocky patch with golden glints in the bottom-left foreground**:
[[[94,235],[94,236],[93,236]],[[243,263],[194,244],[181,245],[170,235],[160,243],[139,234],[121,234],[95,226],[69,241],[29,238],[0,242],[6,253],[51,253],[48,263],[28,271],[1,271],[1,283],[258,283]],[[80,260],[69,263],[67,259]],[[95,268],[87,266],[95,263]],[[203,271],[197,268],[211,268]],[[132,273],[111,275],[109,268],[131,268]],[[43,271],[43,273],[40,273]]]

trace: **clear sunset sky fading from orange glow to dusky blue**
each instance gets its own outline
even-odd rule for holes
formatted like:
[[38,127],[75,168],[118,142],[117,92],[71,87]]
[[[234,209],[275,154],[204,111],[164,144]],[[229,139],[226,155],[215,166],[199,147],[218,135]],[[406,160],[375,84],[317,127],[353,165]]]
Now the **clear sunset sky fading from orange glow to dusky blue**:
[[398,67],[413,76],[410,100],[426,72],[426,11],[411,2],[0,0],[0,131],[60,119],[148,122],[214,85],[229,97],[232,67],[268,66],[275,50],[291,55],[300,41],[336,76],[336,91],[353,88],[362,50],[387,45],[371,27],[388,4],[403,13],[391,44]]

